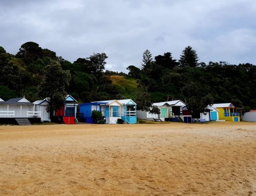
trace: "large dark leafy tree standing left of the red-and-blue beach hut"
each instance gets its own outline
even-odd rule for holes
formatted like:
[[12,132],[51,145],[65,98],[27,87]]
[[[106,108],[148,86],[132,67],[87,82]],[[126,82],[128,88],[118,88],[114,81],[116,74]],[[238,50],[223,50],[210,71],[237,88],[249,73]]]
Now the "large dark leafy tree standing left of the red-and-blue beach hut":
[[65,103],[65,88],[69,86],[69,71],[62,70],[60,63],[52,62],[44,69],[44,77],[39,85],[39,95],[49,100],[50,115],[53,110],[60,110]]

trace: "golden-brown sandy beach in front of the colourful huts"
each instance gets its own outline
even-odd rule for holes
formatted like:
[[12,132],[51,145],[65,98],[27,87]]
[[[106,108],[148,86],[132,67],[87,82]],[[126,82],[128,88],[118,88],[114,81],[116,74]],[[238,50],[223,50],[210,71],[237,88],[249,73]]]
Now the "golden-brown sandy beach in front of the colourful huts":
[[0,196],[256,196],[256,123],[0,126]]

